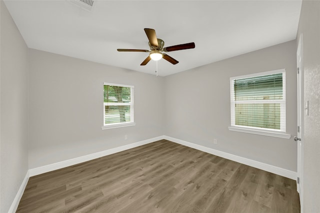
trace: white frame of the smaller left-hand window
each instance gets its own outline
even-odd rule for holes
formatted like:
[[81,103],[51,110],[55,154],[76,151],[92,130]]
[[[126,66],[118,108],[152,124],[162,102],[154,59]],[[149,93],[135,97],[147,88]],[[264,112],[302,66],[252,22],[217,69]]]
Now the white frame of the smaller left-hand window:
[[134,126],[134,86],[132,85],[125,85],[125,84],[115,84],[115,83],[108,83],[108,82],[103,82],[103,90],[104,91],[104,86],[119,86],[119,87],[129,87],[130,88],[130,102],[128,103],[117,103],[114,102],[113,106],[130,106],[130,121],[129,122],[122,122],[122,123],[111,123],[111,124],[105,124],[105,105],[107,102],[104,102],[104,94],[103,94],[103,126],[101,127],[102,130],[106,129],[114,129],[114,128],[120,128],[120,127],[128,127],[128,126]]

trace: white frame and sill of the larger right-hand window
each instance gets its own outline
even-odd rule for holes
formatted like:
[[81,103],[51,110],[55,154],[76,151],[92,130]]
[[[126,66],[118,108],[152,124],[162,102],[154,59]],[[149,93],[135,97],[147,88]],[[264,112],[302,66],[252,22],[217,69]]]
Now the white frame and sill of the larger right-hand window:
[[[233,82],[237,79],[243,78],[250,78],[250,77],[257,77],[263,75],[270,75],[270,74],[277,74],[282,73],[282,99],[275,99],[275,100],[234,100],[234,87]],[[267,72],[259,72],[253,73],[248,75],[241,75],[236,77],[230,77],[230,126],[228,129],[230,131],[236,132],[243,132],[243,133],[250,133],[250,134],[258,134],[264,136],[272,136],[272,137],[279,137],[289,139],[291,135],[286,133],[286,92],[285,92],[285,69],[277,69]],[[252,104],[263,104],[263,103],[279,103],[280,104],[280,112],[283,115],[284,121],[280,121],[280,130],[276,129],[268,129],[268,128],[260,128],[260,127],[249,127],[249,126],[240,126],[235,125],[235,103],[238,104],[245,104],[245,103],[252,103]],[[284,111],[284,112],[283,112]]]

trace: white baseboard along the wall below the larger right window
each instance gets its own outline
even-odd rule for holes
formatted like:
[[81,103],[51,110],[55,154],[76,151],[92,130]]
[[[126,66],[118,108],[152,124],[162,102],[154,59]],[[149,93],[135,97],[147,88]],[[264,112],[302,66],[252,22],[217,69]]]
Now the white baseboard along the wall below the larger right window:
[[297,177],[296,172],[293,172],[293,171],[290,171],[290,170],[286,170],[286,169],[282,169],[280,167],[276,167],[276,166],[272,166],[272,165],[269,165],[269,164],[261,163],[261,162],[258,162],[258,161],[250,160],[250,159],[247,159],[247,158],[239,157],[239,156],[236,156],[236,155],[232,155],[232,154],[225,153],[225,152],[222,152],[222,151],[219,151],[219,150],[211,149],[211,148],[208,148],[208,147],[204,147],[204,146],[201,146],[201,145],[197,145],[197,144],[193,144],[193,143],[190,143],[190,142],[182,141],[180,139],[176,139],[176,138],[172,138],[172,137],[168,137],[168,136],[164,136],[163,139],[168,140],[168,141],[172,141],[172,142],[177,143],[177,144],[181,144],[183,146],[191,147],[193,149],[200,150],[202,152],[206,152],[206,153],[209,153],[209,154],[212,154],[212,155],[216,155],[216,156],[219,156],[221,158],[225,158],[225,159],[229,159],[231,161],[235,161],[235,162],[238,162],[238,163],[241,163],[241,164],[245,164],[245,165],[248,165],[250,167],[254,167],[254,168],[257,168],[257,169],[260,169],[260,170],[264,170],[264,171],[267,171],[267,172],[270,172],[270,173],[274,173],[276,175],[280,175],[280,176],[283,176],[283,177],[286,177],[286,178],[289,178],[289,179],[292,179],[292,180],[296,180],[296,177]]

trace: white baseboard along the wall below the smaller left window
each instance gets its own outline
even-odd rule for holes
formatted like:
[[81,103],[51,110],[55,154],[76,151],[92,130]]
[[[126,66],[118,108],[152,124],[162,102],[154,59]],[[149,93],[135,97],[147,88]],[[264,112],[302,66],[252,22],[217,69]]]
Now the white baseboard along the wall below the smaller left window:
[[150,138],[150,139],[139,141],[139,142],[136,142],[136,143],[127,144],[127,145],[120,146],[120,147],[115,147],[115,148],[104,150],[104,151],[101,151],[101,152],[92,153],[92,154],[89,154],[89,155],[85,155],[85,156],[81,156],[81,157],[77,157],[77,158],[73,158],[73,159],[69,159],[69,160],[65,160],[65,161],[61,161],[61,162],[57,162],[57,163],[54,163],[54,164],[49,164],[49,165],[46,165],[46,166],[37,167],[37,168],[34,168],[34,169],[29,169],[29,177],[32,177],[32,176],[35,176],[35,175],[40,175],[40,174],[43,174],[43,173],[46,173],[46,172],[51,172],[51,171],[57,170],[57,169],[62,169],[62,168],[69,167],[69,166],[72,166],[72,165],[75,165],[75,164],[79,164],[79,163],[90,161],[90,160],[93,160],[93,159],[96,159],[96,158],[100,158],[100,157],[104,157],[104,156],[107,156],[107,155],[111,155],[111,154],[114,154],[114,153],[117,153],[117,152],[125,151],[125,150],[128,150],[128,149],[134,148],[134,147],[138,147],[138,146],[142,146],[142,145],[145,145],[145,144],[148,144],[148,143],[152,143],[152,142],[155,142],[155,141],[162,140],[163,138],[164,138],[163,136],[158,136],[158,137],[155,137],[155,138]]

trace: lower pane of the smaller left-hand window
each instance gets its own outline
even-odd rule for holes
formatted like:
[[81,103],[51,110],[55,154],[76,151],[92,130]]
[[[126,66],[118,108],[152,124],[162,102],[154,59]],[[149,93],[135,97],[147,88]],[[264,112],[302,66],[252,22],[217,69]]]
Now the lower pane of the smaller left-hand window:
[[130,122],[130,106],[104,106],[104,124]]

